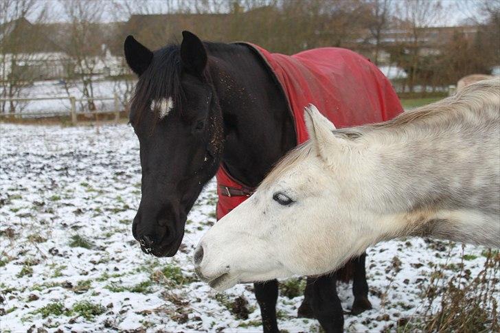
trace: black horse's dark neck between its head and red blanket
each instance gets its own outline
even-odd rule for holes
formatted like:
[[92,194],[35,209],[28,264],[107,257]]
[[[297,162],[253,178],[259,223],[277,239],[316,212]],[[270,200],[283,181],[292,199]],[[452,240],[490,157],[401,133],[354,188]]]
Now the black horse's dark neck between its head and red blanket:
[[223,113],[223,165],[256,187],[296,144],[295,125],[264,63],[247,45],[207,46],[209,72]]

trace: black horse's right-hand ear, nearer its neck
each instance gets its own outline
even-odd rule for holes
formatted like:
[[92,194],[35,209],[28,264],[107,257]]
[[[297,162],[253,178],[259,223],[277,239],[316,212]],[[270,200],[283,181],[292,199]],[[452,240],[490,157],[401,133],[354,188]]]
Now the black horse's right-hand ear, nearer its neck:
[[184,68],[190,73],[201,76],[207,65],[207,50],[200,38],[192,32],[182,32],[181,60]]

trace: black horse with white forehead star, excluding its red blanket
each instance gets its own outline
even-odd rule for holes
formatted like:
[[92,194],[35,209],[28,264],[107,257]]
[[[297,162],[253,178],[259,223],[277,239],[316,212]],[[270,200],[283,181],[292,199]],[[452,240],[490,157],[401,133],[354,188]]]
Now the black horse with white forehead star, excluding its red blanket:
[[[140,143],[141,203],[133,236],[158,257],[177,253],[188,212],[221,163],[238,181],[257,187],[296,143],[286,96],[248,46],[202,43],[183,32],[181,45],[150,51],[132,36],[126,61],[139,76],[130,123]],[[353,261],[352,312],[371,308],[365,255]],[[343,330],[337,275],[308,278],[299,314],[326,332]],[[264,332],[279,332],[277,281],[255,284]],[[312,312],[312,313],[311,313]]]

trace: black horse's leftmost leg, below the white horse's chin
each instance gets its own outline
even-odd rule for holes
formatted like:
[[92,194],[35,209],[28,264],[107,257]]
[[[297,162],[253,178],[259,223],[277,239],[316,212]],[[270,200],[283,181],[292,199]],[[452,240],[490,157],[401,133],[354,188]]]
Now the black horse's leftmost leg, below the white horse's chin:
[[264,333],[279,333],[276,321],[277,280],[253,284],[260,306]]

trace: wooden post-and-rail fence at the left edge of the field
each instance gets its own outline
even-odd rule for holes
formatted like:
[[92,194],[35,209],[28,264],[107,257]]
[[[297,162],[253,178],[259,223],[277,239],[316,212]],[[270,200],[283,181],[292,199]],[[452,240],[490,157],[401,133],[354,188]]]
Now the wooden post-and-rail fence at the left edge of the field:
[[[71,116],[71,124],[76,125],[78,122],[78,115],[100,115],[104,113],[115,113],[115,122],[120,118],[120,100],[118,95],[113,97],[91,97],[91,98],[76,98],[69,97],[32,97],[32,98],[0,98],[1,102],[32,102],[40,100],[69,100],[69,111],[55,111],[55,112],[21,112],[21,113],[0,113],[0,117],[23,117],[23,116],[45,116],[51,117],[54,115],[69,115]],[[101,111],[78,111],[76,102],[95,102],[95,101],[113,101],[113,110]]]

